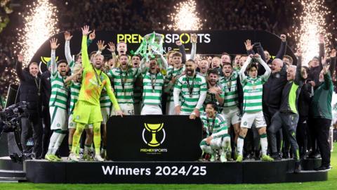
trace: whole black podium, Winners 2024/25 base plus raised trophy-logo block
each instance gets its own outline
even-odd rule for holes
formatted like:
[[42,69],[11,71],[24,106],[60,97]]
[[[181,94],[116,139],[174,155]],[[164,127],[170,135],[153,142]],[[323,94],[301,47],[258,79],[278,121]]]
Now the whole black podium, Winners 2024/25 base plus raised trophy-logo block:
[[[126,184],[265,184],[326,181],[317,172],[320,159],[303,160],[303,172],[293,173],[294,160],[199,162],[201,120],[186,115],[133,115],[107,122],[107,157],[114,161],[73,163],[0,158],[0,181],[35,183]],[[183,160],[183,161],[182,161]]]

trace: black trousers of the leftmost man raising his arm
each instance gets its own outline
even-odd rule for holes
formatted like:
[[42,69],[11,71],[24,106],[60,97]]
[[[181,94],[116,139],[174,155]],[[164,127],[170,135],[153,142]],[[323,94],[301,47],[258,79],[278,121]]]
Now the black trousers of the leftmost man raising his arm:
[[21,118],[21,144],[24,152],[29,151],[27,149],[27,141],[30,137],[29,134],[33,134],[33,153],[36,158],[41,158],[42,154],[42,125],[41,118],[38,114],[29,114],[27,118]]

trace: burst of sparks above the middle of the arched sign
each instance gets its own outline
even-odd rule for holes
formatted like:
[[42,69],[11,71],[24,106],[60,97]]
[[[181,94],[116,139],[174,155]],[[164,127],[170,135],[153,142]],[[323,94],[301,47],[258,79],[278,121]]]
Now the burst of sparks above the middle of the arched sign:
[[196,6],[194,0],[180,2],[174,6],[173,9],[177,10],[176,13],[168,15],[173,23],[173,25],[167,26],[169,30],[200,30],[202,23],[196,11]]

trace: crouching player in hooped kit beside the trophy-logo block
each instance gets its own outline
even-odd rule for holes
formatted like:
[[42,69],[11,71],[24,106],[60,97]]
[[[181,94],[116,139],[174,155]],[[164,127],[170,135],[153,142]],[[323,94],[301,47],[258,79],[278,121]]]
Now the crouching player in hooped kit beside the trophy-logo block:
[[[216,104],[206,103],[205,113],[200,116],[207,137],[200,143],[200,148],[205,153],[211,154],[211,162],[216,158],[216,151],[221,149],[220,161],[226,162],[232,152],[230,148],[230,135],[227,124],[222,115],[216,113]],[[227,158],[226,158],[227,157]]]

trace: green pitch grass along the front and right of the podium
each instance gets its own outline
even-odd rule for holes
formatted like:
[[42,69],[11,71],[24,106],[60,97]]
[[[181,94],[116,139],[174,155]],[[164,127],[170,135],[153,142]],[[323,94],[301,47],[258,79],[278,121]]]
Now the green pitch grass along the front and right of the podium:
[[329,171],[329,179],[326,182],[305,182],[305,183],[282,183],[282,184],[32,184],[20,183],[9,184],[0,183],[0,189],[337,189],[337,143],[333,144],[331,153],[332,170]]

